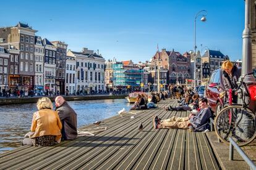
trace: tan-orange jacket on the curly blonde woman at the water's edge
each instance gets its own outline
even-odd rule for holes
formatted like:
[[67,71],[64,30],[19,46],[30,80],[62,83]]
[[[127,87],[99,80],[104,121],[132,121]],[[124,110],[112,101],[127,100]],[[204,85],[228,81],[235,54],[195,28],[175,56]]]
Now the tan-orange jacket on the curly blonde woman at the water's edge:
[[35,134],[31,137],[52,135],[56,136],[55,141],[58,141],[61,139],[61,128],[62,124],[57,111],[45,108],[33,114],[31,131]]

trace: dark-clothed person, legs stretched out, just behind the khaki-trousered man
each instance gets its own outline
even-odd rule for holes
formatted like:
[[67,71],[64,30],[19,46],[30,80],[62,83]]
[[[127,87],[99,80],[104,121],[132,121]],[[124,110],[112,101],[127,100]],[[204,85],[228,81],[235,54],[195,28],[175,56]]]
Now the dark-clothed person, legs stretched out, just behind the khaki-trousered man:
[[[198,110],[199,108],[199,95],[198,94],[194,94],[192,96],[193,102],[192,103],[186,103],[185,105],[179,106],[179,107],[166,107],[166,110],[170,110],[170,111],[192,111],[192,110]],[[191,100],[190,100],[191,101]]]

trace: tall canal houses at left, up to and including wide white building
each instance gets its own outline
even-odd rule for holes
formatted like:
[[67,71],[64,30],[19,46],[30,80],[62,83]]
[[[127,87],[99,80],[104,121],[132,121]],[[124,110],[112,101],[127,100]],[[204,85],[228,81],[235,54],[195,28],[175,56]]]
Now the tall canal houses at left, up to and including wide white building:
[[37,36],[27,24],[0,28],[0,92],[75,94],[103,91],[105,59],[87,48],[67,50],[61,41]]

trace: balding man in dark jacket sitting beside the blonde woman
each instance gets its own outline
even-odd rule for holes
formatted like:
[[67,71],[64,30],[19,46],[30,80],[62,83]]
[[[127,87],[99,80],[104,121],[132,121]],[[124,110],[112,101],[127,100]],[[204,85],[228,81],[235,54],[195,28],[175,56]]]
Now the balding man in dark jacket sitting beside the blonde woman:
[[55,99],[56,111],[62,123],[62,140],[73,140],[77,137],[77,113],[59,95]]

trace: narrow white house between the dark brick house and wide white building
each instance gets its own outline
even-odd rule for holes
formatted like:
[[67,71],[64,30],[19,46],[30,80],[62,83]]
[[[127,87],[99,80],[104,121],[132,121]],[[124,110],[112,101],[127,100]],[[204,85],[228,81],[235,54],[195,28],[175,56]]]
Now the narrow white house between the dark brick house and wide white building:
[[75,95],[75,79],[76,79],[76,62],[75,57],[66,57],[66,92]]

